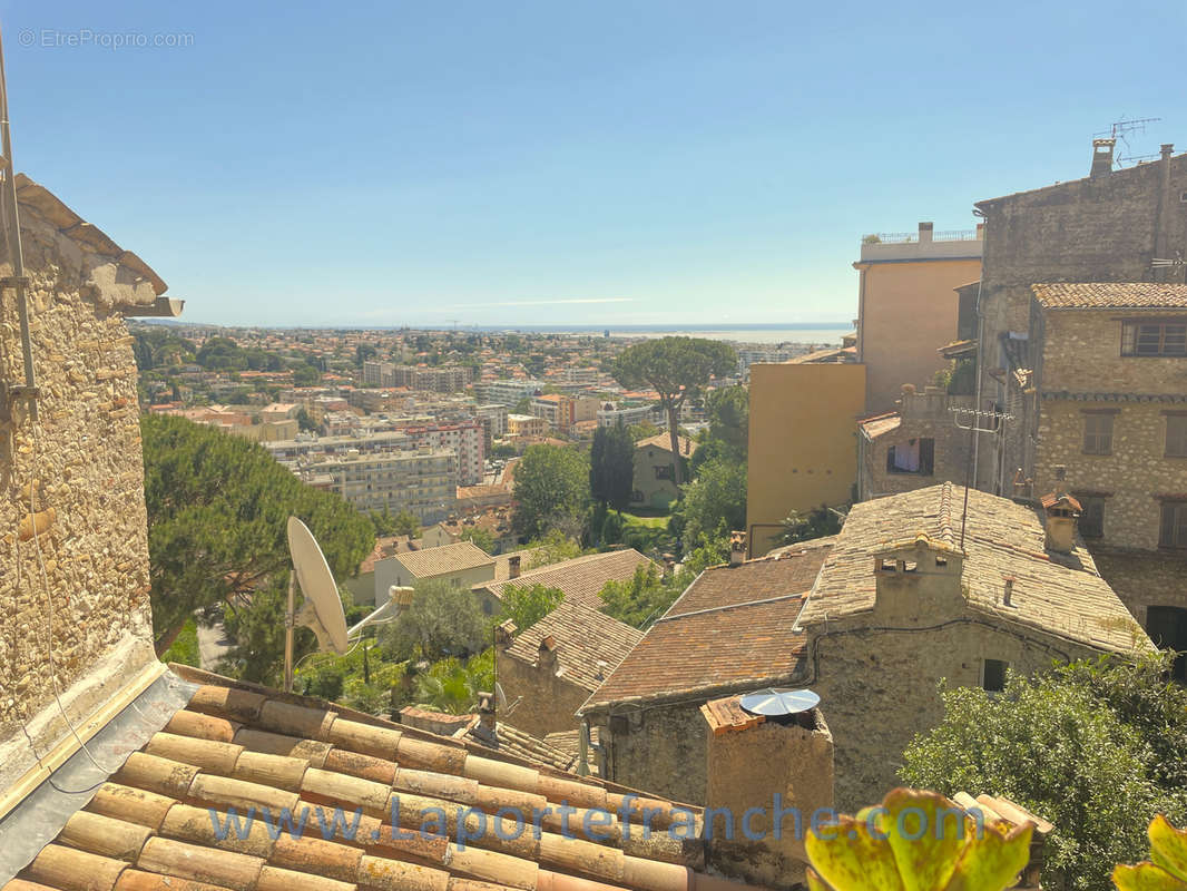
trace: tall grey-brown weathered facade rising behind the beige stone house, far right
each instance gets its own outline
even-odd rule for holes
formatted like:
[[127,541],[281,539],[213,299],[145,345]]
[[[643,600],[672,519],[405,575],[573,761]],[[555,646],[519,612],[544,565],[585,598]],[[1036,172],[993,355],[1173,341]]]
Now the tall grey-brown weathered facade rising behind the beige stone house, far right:
[[[1032,284],[1183,282],[1181,267],[1151,267],[1156,257],[1187,254],[1183,192],[1187,154],[1173,157],[1164,146],[1155,163],[977,203],[985,216],[982,407],[1015,416],[1026,409],[1024,387],[1008,371],[1034,367],[1036,359],[1028,339]],[[1026,425],[1007,424],[1002,436],[983,437],[982,448],[979,487],[1010,495],[1016,468],[1026,466]]]

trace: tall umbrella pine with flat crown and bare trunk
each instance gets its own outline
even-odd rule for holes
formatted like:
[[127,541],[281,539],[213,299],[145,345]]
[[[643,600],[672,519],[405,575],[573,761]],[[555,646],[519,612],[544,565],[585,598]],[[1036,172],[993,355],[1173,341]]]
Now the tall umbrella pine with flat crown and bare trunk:
[[[614,378],[628,390],[650,387],[667,412],[672,454],[679,455],[677,426],[680,409],[697,398],[715,377],[737,368],[737,353],[729,343],[698,337],[660,337],[624,349],[614,364]],[[675,462],[675,482],[684,481],[684,468]]]

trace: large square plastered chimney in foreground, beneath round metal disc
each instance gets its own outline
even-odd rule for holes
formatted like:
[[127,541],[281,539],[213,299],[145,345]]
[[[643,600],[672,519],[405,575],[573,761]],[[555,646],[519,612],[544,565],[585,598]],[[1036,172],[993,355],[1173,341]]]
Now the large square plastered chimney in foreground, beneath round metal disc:
[[[801,883],[812,815],[833,807],[832,734],[819,708],[764,718],[744,709],[741,696],[728,696],[700,713],[707,726],[705,813],[723,809],[705,826],[709,865],[748,884]],[[750,808],[762,810],[743,824]],[[732,839],[725,838],[730,819]]]

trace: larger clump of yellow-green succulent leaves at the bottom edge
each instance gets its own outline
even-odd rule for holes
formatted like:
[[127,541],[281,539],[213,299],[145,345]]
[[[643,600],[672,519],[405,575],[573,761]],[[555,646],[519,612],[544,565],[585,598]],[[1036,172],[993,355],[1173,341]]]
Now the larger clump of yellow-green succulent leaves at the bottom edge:
[[882,804],[805,839],[813,891],[1003,891],[1027,865],[1033,827],[978,827],[935,792],[895,789]]

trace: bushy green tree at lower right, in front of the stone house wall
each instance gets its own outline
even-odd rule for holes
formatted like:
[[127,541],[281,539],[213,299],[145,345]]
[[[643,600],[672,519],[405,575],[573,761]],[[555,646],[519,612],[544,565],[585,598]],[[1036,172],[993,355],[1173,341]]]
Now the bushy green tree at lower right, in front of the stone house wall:
[[1005,691],[941,685],[944,720],[907,748],[902,777],[952,795],[992,790],[1055,829],[1043,884],[1104,891],[1113,864],[1140,858],[1155,814],[1187,813],[1187,690],[1168,662],[1122,657],[1060,666]]

